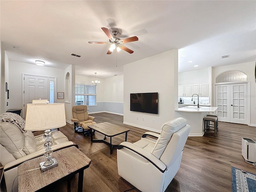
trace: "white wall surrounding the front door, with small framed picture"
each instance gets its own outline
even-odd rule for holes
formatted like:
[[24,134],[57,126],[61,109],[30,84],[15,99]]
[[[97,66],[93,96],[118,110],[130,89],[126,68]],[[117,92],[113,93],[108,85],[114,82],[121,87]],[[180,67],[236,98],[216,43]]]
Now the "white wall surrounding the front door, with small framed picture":
[[[22,109],[22,73],[57,77],[57,92],[64,90],[64,70],[62,69],[9,61],[9,71],[10,109]],[[57,102],[64,101],[58,99]]]

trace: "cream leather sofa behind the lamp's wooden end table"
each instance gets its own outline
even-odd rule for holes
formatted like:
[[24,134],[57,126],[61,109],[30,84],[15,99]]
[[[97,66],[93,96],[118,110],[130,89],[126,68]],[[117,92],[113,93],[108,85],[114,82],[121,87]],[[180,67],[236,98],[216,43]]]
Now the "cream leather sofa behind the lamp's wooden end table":
[[[45,152],[43,134],[34,136],[30,131],[23,133],[10,122],[0,122],[0,162],[4,166],[4,179],[7,192],[18,191],[18,165],[26,160],[42,156]],[[55,130],[52,132],[52,150],[56,151],[74,142]],[[54,153],[53,153],[54,158]],[[39,163],[38,163],[39,166]]]

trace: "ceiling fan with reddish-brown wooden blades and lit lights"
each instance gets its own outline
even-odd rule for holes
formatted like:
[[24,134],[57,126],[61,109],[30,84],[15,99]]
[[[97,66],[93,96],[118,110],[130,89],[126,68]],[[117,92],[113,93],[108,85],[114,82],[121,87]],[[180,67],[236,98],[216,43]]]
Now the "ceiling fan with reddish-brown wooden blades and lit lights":
[[113,50],[116,48],[117,51],[125,50],[128,53],[133,53],[133,50],[130,50],[129,48],[123,46],[122,44],[124,43],[128,43],[128,42],[133,42],[133,41],[138,41],[138,37],[137,36],[133,36],[133,37],[129,37],[129,38],[125,38],[125,39],[120,39],[118,38],[116,35],[118,34],[118,31],[113,30],[112,34],[110,33],[110,31],[108,30],[108,28],[102,27],[101,28],[104,33],[108,36],[109,38],[109,42],[94,42],[94,41],[89,41],[88,43],[91,44],[111,44],[107,54],[111,54],[113,52]]

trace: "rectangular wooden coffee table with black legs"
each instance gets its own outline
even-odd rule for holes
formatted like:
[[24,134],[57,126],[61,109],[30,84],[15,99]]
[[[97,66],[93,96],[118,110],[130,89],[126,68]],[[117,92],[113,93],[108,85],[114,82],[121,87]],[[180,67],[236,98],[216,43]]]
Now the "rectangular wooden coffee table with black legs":
[[[115,125],[115,124],[112,124],[109,122],[88,125],[88,127],[90,128],[90,132],[91,132],[91,142],[107,144],[108,146],[110,146],[110,154],[112,154],[113,148],[118,146],[118,145],[112,144],[112,137],[125,133],[124,141],[127,141],[127,132],[130,131],[130,129],[128,129],[128,128],[125,128],[125,127],[122,127],[119,125]],[[94,140],[93,136],[92,136],[92,130],[95,130],[96,132],[103,134],[105,136],[105,138],[103,140]],[[110,137],[110,143],[105,141],[106,136]]]

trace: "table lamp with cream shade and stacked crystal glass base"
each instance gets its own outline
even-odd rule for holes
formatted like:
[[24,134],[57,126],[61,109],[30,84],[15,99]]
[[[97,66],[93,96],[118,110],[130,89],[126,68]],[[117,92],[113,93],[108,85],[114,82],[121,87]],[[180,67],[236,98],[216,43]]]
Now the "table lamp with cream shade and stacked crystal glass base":
[[27,104],[25,130],[44,131],[44,157],[45,162],[40,163],[41,171],[58,166],[55,158],[52,158],[51,129],[66,125],[64,103],[51,104]]

